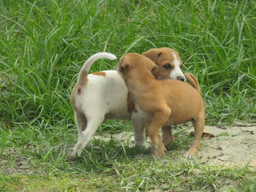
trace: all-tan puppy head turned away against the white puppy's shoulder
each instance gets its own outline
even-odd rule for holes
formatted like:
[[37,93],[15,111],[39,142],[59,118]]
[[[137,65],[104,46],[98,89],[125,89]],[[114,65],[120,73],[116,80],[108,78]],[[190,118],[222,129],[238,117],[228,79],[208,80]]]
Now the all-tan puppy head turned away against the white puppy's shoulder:
[[[158,69],[158,66],[144,55],[140,55],[138,53],[127,53],[127,55],[120,58],[116,69],[124,80],[126,80],[129,72],[138,73],[138,75],[140,75],[141,70],[145,71],[145,67],[148,69],[148,72],[151,72],[152,74],[154,74]],[[131,70],[135,68],[136,70]]]

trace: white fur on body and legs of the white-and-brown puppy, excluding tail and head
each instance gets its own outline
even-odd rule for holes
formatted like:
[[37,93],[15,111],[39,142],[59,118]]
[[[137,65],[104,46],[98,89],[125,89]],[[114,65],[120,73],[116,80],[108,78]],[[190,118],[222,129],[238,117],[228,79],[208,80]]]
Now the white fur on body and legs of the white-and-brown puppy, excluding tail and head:
[[[104,71],[105,76],[89,74],[88,82],[82,94],[77,96],[75,114],[86,116],[87,125],[84,131],[78,128],[78,142],[70,155],[80,155],[89,140],[94,135],[105,118],[131,120],[135,130],[135,145],[143,147],[145,143],[145,128],[142,118],[137,112],[133,116],[127,110],[128,89],[124,80],[116,71]],[[78,118],[75,115],[79,127]]]

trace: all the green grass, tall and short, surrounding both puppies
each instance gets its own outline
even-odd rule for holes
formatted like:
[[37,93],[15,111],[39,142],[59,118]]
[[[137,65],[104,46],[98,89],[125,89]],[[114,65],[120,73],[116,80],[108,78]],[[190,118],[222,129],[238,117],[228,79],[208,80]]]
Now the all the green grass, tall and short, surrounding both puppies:
[[[256,1],[0,0],[0,191],[255,191],[255,170],[162,159],[133,143],[67,161],[69,93],[83,62],[172,47],[200,82],[206,124],[256,121]],[[91,72],[113,69],[100,61]],[[97,134],[132,131],[107,120]],[[191,138],[170,149],[187,149]]]

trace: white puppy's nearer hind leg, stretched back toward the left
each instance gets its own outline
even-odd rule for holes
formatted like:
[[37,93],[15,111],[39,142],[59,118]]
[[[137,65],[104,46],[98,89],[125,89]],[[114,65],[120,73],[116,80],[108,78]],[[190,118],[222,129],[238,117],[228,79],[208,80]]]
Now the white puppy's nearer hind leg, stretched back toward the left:
[[87,125],[86,129],[80,133],[77,144],[74,147],[73,153],[80,156],[83,151],[83,148],[86,147],[91,137],[97,131],[99,124],[104,120],[104,114],[94,114],[93,116],[86,115]]

